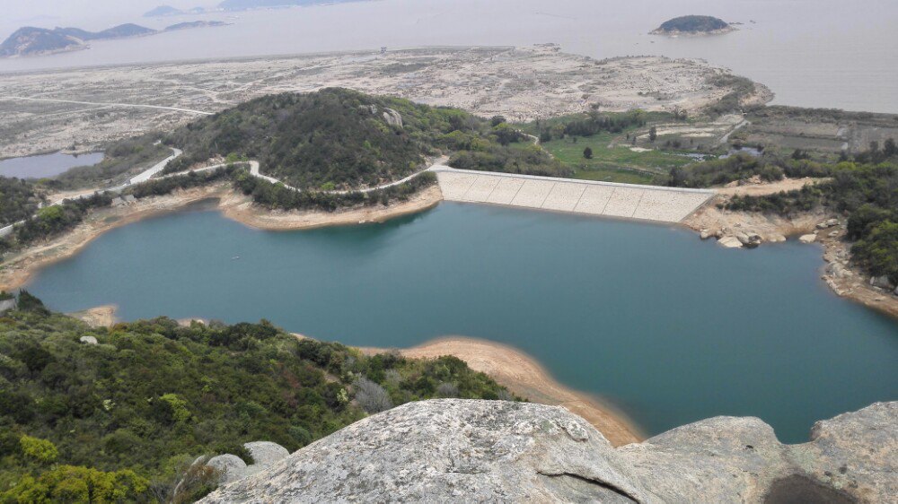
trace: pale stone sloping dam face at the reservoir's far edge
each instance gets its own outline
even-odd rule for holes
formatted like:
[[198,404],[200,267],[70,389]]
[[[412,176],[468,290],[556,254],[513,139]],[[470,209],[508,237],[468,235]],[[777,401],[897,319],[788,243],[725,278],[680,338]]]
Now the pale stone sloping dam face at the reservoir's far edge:
[[446,201],[502,204],[653,222],[681,222],[714,196],[713,191],[613,184],[436,168]]

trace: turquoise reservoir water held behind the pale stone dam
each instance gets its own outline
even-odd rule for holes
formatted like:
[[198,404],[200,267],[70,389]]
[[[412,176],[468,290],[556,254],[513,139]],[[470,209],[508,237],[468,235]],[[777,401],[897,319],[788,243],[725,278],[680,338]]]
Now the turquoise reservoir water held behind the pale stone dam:
[[479,205],[296,232],[203,211],[113,230],[29,289],[64,311],[265,317],[353,345],[476,336],[530,353],[651,434],[753,415],[799,442],[816,420],[898,399],[898,324],[832,295],[820,256]]

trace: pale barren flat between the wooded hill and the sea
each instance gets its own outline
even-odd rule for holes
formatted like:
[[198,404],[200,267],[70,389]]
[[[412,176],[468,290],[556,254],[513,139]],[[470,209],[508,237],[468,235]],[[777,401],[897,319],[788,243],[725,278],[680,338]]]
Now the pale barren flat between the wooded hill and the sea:
[[[701,109],[732,91],[708,83],[720,74],[728,71],[696,59],[635,56],[598,61],[563,53],[554,45],[358,51],[2,74],[0,158],[60,149],[92,151],[123,137],[171,130],[201,117],[198,112],[217,112],[277,92],[339,86],[458,107],[485,117],[530,120],[582,112],[593,104],[604,110]],[[760,84],[758,90],[749,100],[766,102],[772,97]]]

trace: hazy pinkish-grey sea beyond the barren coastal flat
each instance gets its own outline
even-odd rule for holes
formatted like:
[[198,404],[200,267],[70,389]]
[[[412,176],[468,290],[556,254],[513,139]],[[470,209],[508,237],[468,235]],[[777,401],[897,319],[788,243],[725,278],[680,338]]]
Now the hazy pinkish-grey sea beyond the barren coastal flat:
[[[667,19],[692,13],[742,24],[735,32],[715,37],[647,34]],[[141,14],[111,19],[84,13],[83,19],[45,24],[94,30],[138,22],[162,28],[209,19],[233,25],[95,42],[91,49],[75,53],[0,60],[0,72],[382,46],[556,42],[567,52],[597,58],[704,58],[767,84],[777,94],[774,103],[898,113],[894,0],[383,0],[161,19]],[[0,20],[0,37],[16,28]]]

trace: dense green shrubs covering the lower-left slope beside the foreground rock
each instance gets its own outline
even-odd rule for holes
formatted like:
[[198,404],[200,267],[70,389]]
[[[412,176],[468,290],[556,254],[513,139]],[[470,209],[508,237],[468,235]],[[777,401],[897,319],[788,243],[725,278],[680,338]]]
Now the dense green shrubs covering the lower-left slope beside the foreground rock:
[[173,495],[200,455],[293,451],[419,399],[511,397],[453,357],[365,356],[264,320],[92,329],[27,292],[19,306],[0,318],[0,502],[190,501],[213,487]]

